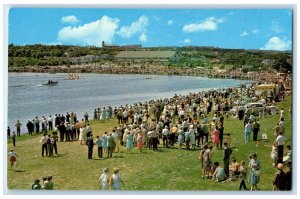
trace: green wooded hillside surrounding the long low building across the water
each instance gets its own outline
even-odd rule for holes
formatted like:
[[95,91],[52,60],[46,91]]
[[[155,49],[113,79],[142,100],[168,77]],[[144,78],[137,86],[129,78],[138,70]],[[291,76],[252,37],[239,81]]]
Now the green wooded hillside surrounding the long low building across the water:
[[[58,66],[66,68],[72,65],[120,65],[132,66],[134,63],[116,61],[114,56],[126,48],[100,48],[100,47],[79,47],[79,46],[47,46],[47,45],[26,45],[8,46],[8,69],[9,71],[18,71],[16,68],[31,66],[50,67],[57,69]],[[289,51],[261,51],[261,50],[244,50],[244,49],[222,49],[214,47],[153,47],[138,48],[131,50],[175,50],[180,56],[178,62],[156,63],[156,65],[167,65],[175,68],[195,68],[203,67],[205,69],[240,69],[243,66],[251,66],[250,70],[292,70],[292,53]],[[88,58],[88,59],[86,59]],[[76,61],[78,60],[78,61]],[[142,67],[147,67],[150,62],[141,63]],[[24,69],[26,70],[26,69]],[[27,70],[31,70],[27,68]],[[34,69],[32,69],[34,70]],[[70,72],[68,70],[57,69],[61,72]],[[245,70],[244,72],[247,72]],[[89,72],[89,71],[81,71]],[[100,71],[101,72],[101,71]]]

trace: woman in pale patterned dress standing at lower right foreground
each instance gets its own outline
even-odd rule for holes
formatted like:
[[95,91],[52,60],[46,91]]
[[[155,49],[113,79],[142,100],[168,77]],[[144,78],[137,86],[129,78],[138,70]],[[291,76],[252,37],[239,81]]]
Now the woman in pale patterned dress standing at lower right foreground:
[[251,191],[257,190],[257,184],[259,183],[259,171],[260,171],[260,161],[257,160],[257,155],[253,154],[249,162],[249,183],[251,185]]

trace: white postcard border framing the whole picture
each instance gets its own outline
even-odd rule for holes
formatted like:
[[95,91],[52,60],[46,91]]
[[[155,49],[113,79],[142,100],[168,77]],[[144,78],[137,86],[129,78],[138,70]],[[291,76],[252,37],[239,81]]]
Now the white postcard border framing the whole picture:
[[[101,5],[99,5],[101,4]],[[290,4],[287,6],[287,4]],[[298,81],[296,77],[299,77],[299,70],[297,70],[296,64],[299,63],[298,59],[298,53],[297,53],[297,47],[298,47],[298,40],[297,40],[297,35],[296,33],[299,32],[298,27],[299,27],[299,20],[297,18],[297,13],[295,13],[299,6],[298,6],[298,1],[297,0],[285,0],[285,1],[272,1],[272,0],[246,0],[246,1],[233,1],[233,0],[228,0],[228,1],[224,1],[224,0],[209,0],[209,1],[205,1],[205,2],[199,2],[196,0],[185,0],[185,1],[157,1],[157,0],[144,0],[144,1],[137,1],[137,0],[129,0],[129,1],[122,1],[122,0],[110,0],[110,1],[105,1],[105,2],[99,2],[97,0],[85,0],[85,1],[76,1],[74,2],[74,0],[52,0],[52,1],[45,1],[45,2],[41,2],[41,0],[27,0],[27,1],[22,1],[22,0],[4,0],[2,3],[2,7],[1,7],[1,13],[3,13],[1,15],[1,21],[3,22],[3,26],[2,26],[2,31],[1,31],[1,38],[2,38],[2,48],[0,51],[0,60],[6,60],[3,59],[5,57],[7,57],[7,7],[4,6],[12,6],[12,7],[90,7],[91,5],[95,6],[95,7],[145,7],[145,6],[150,6],[150,7],[179,7],[179,8],[191,8],[191,7],[209,7],[209,8],[241,8],[241,7],[246,7],[246,8],[261,8],[261,7],[271,7],[271,8],[290,8],[291,5],[294,5],[294,30],[293,30],[293,61],[294,61],[294,71],[293,71],[293,77],[294,77],[294,81],[293,81],[293,117],[294,117],[294,122],[293,122],[293,129],[294,129],[294,137],[293,137],[293,147],[294,149],[296,148],[296,144],[300,143],[299,142],[299,137],[300,136],[296,136],[296,129],[298,129],[298,125],[297,125],[297,118],[298,117],[298,95],[297,95],[297,89],[298,89]],[[147,7],[148,7],[147,6]],[[5,39],[4,39],[5,38]],[[0,87],[5,88],[7,87],[7,64],[5,62],[3,63],[3,70],[0,70],[0,77],[1,77],[1,81],[0,81]],[[7,60],[6,60],[7,62]],[[3,140],[3,135],[5,135],[6,137],[6,126],[3,126],[3,124],[7,123],[6,120],[7,118],[4,117],[4,115],[6,115],[6,111],[4,104],[7,103],[7,90],[5,89],[1,89],[1,94],[0,94],[0,110],[4,110],[3,114],[0,114],[0,128],[2,129],[2,134],[0,136],[0,142],[1,144],[5,143]],[[297,111],[296,111],[297,110]],[[6,157],[6,147],[2,147],[3,153],[0,153],[0,158],[3,160]],[[294,153],[294,156],[296,156],[296,150]],[[297,164],[296,166],[299,165],[299,160],[297,158]],[[6,171],[6,167],[7,165],[2,164],[3,168],[1,170],[1,179],[3,179],[2,181],[0,181],[0,187],[1,187],[1,193],[2,193],[2,197],[4,198],[52,198],[52,197],[64,197],[65,195],[68,194],[72,194],[72,198],[82,198],[84,194],[89,194],[87,197],[89,198],[99,198],[99,197],[114,197],[114,196],[99,196],[99,195],[90,195],[90,194],[98,194],[98,192],[87,192],[87,193],[82,193],[81,191],[72,191],[72,192],[60,192],[60,191],[54,191],[52,192],[53,194],[57,195],[57,196],[49,196],[49,195],[27,195],[28,193],[26,193],[26,191],[17,191],[14,194],[18,194],[18,195],[6,195],[7,193],[4,193],[3,191],[3,187],[4,184],[6,184],[5,180],[6,180],[6,175],[3,174],[2,171]],[[295,169],[297,168],[296,166],[294,166],[294,172],[296,171]],[[297,174],[298,176],[298,174]],[[294,179],[294,182],[296,182],[297,179]],[[5,182],[5,183],[4,183]],[[297,183],[297,187],[295,187],[295,191],[300,190],[299,188],[299,184]],[[19,195],[20,194],[20,195]],[[23,195],[25,194],[25,195]],[[31,193],[30,193],[31,194]],[[121,194],[125,194],[124,196],[116,196],[116,197],[125,197],[125,198],[137,198],[137,197],[145,197],[145,198],[152,198],[152,197],[168,197],[165,196],[167,195],[171,195],[169,197],[174,197],[174,198],[181,198],[183,195],[189,195],[189,198],[199,198],[199,197],[210,197],[210,196],[205,196],[202,193],[199,194],[199,192],[122,192]],[[133,195],[132,195],[133,194]],[[151,194],[151,195],[139,195],[139,194]],[[155,195],[153,195],[155,194]],[[194,194],[199,194],[199,195],[194,195]],[[210,194],[209,192],[206,194]],[[247,192],[247,194],[249,195],[237,195],[237,192],[212,192],[212,195],[216,195],[216,197],[222,197],[222,198],[233,198],[233,197],[243,197],[243,198],[248,198],[248,197],[257,197],[259,195],[264,195],[261,192]],[[226,194],[225,196],[223,196],[224,194]],[[230,194],[234,194],[234,195],[230,195]],[[245,192],[244,192],[245,194]],[[250,195],[251,194],[251,195]],[[275,195],[276,194],[276,195]],[[279,192],[274,192],[274,194],[272,194],[272,198],[282,198],[282,197],[290,197],[290,198],[296,198],[298,193],[296,193],[296,195],[282,195],[284,193],[279,193]],[[222,196],[221,196],[222,195]]]

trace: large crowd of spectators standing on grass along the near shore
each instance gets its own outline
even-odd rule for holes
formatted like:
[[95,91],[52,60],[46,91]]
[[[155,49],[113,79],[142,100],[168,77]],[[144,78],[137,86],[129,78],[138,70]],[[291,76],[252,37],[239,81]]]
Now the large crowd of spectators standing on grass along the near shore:
[[[241,92],[247,95],[248,98],[236,98],[236,96],[241,95]],[[81,122],[77,120],[76,114],[73,113],[67,113],[66,117],[55,115],[54,119],[50,116],[47,120],[42,117],[42,132],[44,133],[41,139],[43,144],[42,156],[44,156],[44,151],[48,156],[53,155],[54,143],[57,141],[78,140],[80,144],[87,145],[88,159],[93,158],[94,145],[97,146],[98,158],[103,158],[103,152],[106,152],[106,157],[110,158],[113,152],[120,152],[122,146],[128,152],[137,147],[139,153],[142,153],[144,148],[159,151],[159,144],[163,148],[173,148],[177,143],[178,149],[200,150],[199,159],[201,160],[203,179],[212,178],[218,182],[226,182],[238,176],[241,179],[239,189],[241,190],[242,187],[246,189],[246,161],[241,160],[241,164],[237,165],[237,160],[233,158],[232,161],[234,160],[234,162],[230,166],[232,141],[230,133],[225,133],[224,122],[226,118],[231,116],[241,121],[244,120],[245,142],[250,142],[251,133],[253,133],[253,141],[257,141],[261,124],[258,118],[253,115],[253,112],[244,106],[253,99],[256,99],[256,101],[262,100],[266,105],[274,104],[274,98],[258,98],[252,86],[248,88],[209,90],[189,95],[175,94],[169,99],[150,100],[133,105],[126,104],[114,110],[111,107],[102,110],[97,108],[94,111],[94,119],[101,121],[114,117],[118,120],[118,126],[111,129],[111,132],[97,135],[95,141],[93,139],[94,132],[89,126],[87,113],[83,116]],[[234,106],[242,108],[239,109],[236,115],[231,115],[230,109]],[[242,114],[242,117],[240,114]],[[208,115],[212,115],[212,117],[209,118]],[[283,114],[279,122],[281,122],[281,128],[279,128],[275,140],[277,148],[274,149],[277,152],[278,159],[274,161],[273,165],[277,168],[281,168],[280,164],[283,163],[289,165],[291,161],[291,159],[289,159],[289,163],[283,161],[283,145],[285,143]],[[33,130],[39,133],[39,120],[37,117],[33,120],[33,123],[32,128],[28,128],[29,134],[32,134]],[[53,123],[54,127],[52,127]],[[53,135],[48,134],[48,131],[52,131]],[[57,132],[59,132],[59,136]],[[217,149],[224,150],[223,168],[219,162],[213,163],[213,154]],[[250,169],[248,181],[251,190],[258,189],[260,167],[257,155],[251,154],[248,163]],[[101,175],[102,177],[99,178],[102,189],[107,190],[108,186],[111,186],[111,189],[118,190],[122,182],[121,178],[117,176],[118,169],[116,169],[117,173],[114,177],[118,181],[118,186],[116,185],[118,188],[114,188],[113,183],[109,185],[107,172],[108,169],[104,169],[103,176]],[[285,190],[288,189],[285,188]]]

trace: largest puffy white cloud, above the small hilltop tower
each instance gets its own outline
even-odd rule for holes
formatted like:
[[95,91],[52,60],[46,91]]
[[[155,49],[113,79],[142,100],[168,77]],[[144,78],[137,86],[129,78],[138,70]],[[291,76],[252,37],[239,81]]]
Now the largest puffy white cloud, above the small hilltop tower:
[[103,16],[82,26],[64,27],[58,32],[58,40],[67,44],[101,46],[102,41],[112,42],[118,23],[118,18]]

